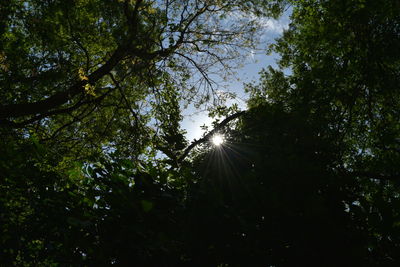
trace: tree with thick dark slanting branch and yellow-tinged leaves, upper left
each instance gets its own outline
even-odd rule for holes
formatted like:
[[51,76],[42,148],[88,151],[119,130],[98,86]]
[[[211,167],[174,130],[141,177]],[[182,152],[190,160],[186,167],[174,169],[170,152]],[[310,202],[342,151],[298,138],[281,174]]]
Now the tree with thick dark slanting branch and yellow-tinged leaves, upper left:
[[210,72],[229,72],[238,49],[254,45],[257,16],[277,16],[281,2],[7,1],[2,131],[69,144],[58,149],[72,158],[116,146],[137,157],[165,92],[212,95]]

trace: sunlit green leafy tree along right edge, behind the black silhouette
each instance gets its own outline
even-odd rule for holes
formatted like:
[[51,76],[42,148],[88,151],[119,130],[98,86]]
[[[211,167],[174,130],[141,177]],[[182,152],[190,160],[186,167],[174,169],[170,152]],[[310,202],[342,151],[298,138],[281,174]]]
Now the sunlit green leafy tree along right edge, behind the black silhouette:
[[248,87],[251,107],[281,106],[330,144],[325,169],[336,185],[347,184],[342,201],[370,265],[399,260],[399,8],[395,1],[293,2],[290,27],[271,47],[281,68]]

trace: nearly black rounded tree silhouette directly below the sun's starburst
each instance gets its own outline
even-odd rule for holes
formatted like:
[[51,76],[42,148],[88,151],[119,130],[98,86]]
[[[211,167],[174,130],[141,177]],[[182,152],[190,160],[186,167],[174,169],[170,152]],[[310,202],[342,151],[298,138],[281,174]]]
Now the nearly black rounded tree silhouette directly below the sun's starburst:
[[365,235],[345,206],[357,185],[329,168],[337,149],[307,117],[264,103],[225,139],[195,164],[187,242],[195,262],[366,264]]

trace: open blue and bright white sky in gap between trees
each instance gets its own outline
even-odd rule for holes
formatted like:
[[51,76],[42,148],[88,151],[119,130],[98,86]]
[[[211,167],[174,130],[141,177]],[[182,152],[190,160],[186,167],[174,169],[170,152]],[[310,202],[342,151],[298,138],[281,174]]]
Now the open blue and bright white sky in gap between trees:
[[[287,10],[278,20],[265,19],[262,21],[262,26],[265,29],[263,29],[264,34],[261,36],[261,42],[258,47],[260,51],[265,50],[269,44],[273,43],[276,38],[282,35],[284,29],[289,25],[289,15],[290,10]],[[248,56],[247,64],[244,64],[244,67],[236,71],[237,75],[235,77],[228,79],[225,84],[227,87],[223,89],[217,88],[218,90],[229,90],[237,95],[235,101],[228,102],[227,104],[236,102],[240,109],[246,109],[245,100],[248,96],[244,92],[243,84],[259,80],[259,72],[269,65],[276,67],[277,59],[278,56],[276,54],[268,56],[265,52],[251,53]],[[199,139],[204,133],[201,126],[210,126],[212,122],[212,120],[207,116],[207,112],[199,111],[193,106],[189,106],[182,110],[182,114],[183,121],[181,126],[182,129],[186,131],[186,138],[189,141]]]

